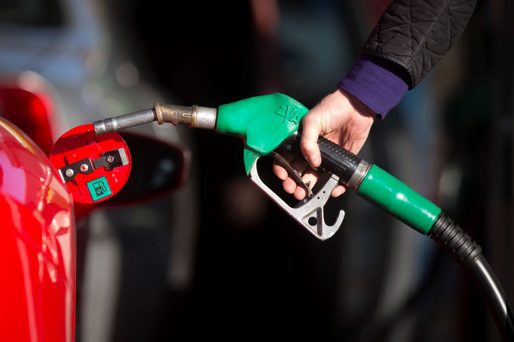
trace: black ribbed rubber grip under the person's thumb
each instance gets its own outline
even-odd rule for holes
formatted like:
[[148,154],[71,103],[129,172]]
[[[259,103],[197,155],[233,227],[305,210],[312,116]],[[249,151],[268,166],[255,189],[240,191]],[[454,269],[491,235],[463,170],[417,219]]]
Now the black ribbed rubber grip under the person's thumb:
[[[306,162],[300,149],[301,136],[301,132],[298,132],[288,137],[280,147]],[[318,137],[318,146],[321,152],[321,166],[318,169],[332,172],[342,184],[348,183],[362,158],[322,136]]]

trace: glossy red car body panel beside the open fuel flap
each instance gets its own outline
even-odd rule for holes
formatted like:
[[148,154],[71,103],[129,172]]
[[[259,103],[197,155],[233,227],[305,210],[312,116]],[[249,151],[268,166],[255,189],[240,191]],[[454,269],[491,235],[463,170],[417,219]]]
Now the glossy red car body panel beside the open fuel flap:
[[0,232],[0,338],[73,340],[73,200],[44,152],[1,117]]

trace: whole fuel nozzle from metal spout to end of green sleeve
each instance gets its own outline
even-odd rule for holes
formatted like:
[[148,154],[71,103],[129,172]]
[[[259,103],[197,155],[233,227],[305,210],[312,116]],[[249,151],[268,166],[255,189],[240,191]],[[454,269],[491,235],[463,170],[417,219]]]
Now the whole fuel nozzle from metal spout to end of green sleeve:
[[[256,172],[251,173],[256,160],[270,154],[278,147],[303,159],[299,127],[307,112],[308,109],[297,100],[276,93],[250,97],[219,106],[217,109],[196,105],[185,107],[155,103],[153,108],[99,120],[93,125],[97,135],[157,121],[158,124],[165,122],[173,125],[182,124],[192,128],[215,129],[219,134],[238,136],[245,142],[243,155],[246,172],[252,180],[256,180],[258,179]],[[331,173],[334,179],[337,178],[333,181],[334,187],[337,184],[350,187],[359,196],[416,231],[423,234],[430,231],[441,210],[428,199],[379,167],[366,163],[359,156],[330,140],[320,137],[318,145],[322,159],[319,169]],[[288,170],[288,172],[293,174],[295,171]],[[299,183],[302,182],[300,175],[294,176]],[[256,185],[261,189],[265,186],[262,182],[257,182],[259,184]],[[329,190],[332,191],[332,189]],[[327,189],[324,191],[327,194]],[[267,194],[273,200],[278,198],[274,193]],[[325,225],[322,216],[323,206],[328,197],[320,196],[320,203],[317,195],[312,197],[316,198],[306,198],[304,202],[311,202],[311,205],[316,203],[316,206],[308,213],[302,212],[302,215],[296,211],[293,214],[293,210],[283,203],[277,204],[315,236],[326,239],[332,236],[338,227],[335,230],[332,229],[332,233],[326,233],[328,226]],[[344,215],[344,212],[342,213]],[[305,214],[308,214],[308,217]],[[316,219],[315,225],[305,223],[311,217]],[[312,222],[314,220],[311,220]]]

